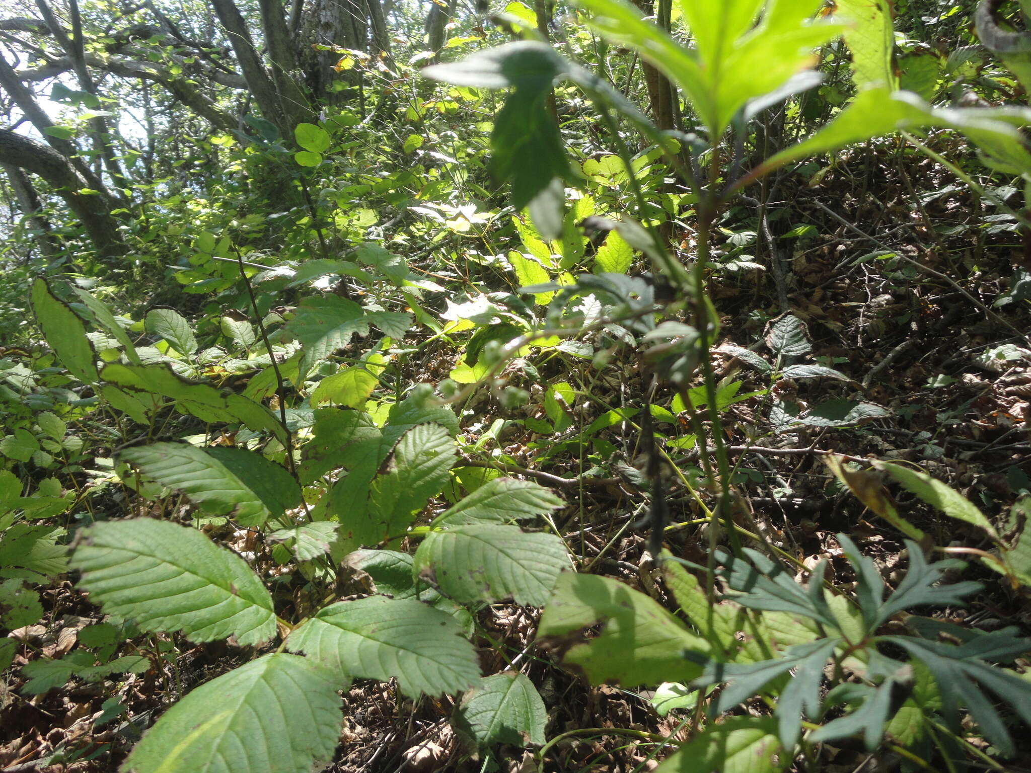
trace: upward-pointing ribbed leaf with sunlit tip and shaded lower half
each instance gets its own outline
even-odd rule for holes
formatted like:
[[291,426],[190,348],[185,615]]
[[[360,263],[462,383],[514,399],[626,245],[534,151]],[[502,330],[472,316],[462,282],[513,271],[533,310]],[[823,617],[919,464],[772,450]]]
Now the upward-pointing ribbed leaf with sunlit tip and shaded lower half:
[[372,481],[369,530],[359,524],[341,523],[367,544],[397,537],[411,523],[430,497],[443,491],[458,453],[455,440],[440,425],[424,424],[406,432],[394,449],[393,468]]

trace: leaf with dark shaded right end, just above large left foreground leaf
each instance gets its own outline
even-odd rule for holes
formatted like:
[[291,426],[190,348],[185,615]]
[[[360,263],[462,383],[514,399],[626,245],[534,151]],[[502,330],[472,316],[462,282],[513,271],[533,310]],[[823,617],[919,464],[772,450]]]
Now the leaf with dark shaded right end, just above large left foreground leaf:
[[126,448],[119,459],[182,492],[210,515],[228,515],[241,526],[261,527],[301,501],[297,483],[284,467],[242,448],[153,443]]

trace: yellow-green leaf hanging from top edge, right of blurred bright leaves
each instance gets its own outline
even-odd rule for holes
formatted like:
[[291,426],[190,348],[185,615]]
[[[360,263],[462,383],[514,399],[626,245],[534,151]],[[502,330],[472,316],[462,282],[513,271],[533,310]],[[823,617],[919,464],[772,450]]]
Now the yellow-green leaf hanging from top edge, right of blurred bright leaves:
[[898,87],[894,71],[895,29],[888,0],[835,0],[834,19],[852,52],[852,78],[860,90]]

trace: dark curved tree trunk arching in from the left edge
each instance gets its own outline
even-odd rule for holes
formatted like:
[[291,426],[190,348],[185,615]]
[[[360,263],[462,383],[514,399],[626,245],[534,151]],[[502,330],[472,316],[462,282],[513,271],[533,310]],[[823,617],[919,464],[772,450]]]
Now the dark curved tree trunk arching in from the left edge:
[[0,129],[0,164],[20,167],[46,180],[81,222],[101,258],[125,254],[109,199],[102,194],[80,193],[89,184],[66,157],[42,142]]

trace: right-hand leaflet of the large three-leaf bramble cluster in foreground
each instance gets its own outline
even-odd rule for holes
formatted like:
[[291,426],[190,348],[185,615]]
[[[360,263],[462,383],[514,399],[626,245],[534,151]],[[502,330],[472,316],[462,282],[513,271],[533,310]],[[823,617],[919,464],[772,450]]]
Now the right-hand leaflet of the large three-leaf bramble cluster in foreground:
[[414,599],[370,596],[331,604],[287,639],[332,671],[396,677],[406,695],[459,693],[479,683],[479,664],[459,623]]

